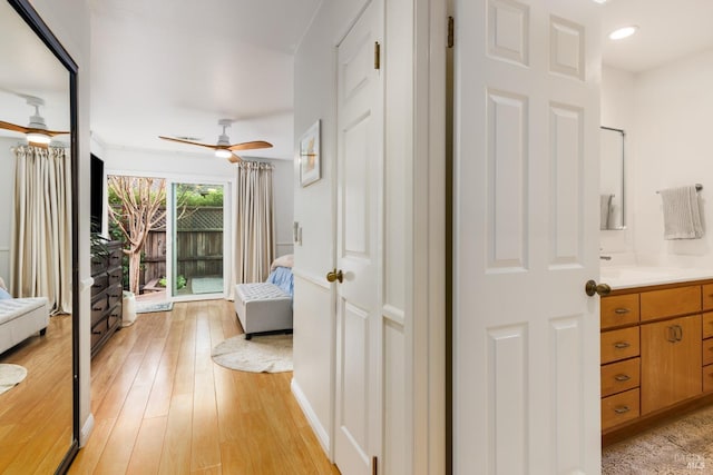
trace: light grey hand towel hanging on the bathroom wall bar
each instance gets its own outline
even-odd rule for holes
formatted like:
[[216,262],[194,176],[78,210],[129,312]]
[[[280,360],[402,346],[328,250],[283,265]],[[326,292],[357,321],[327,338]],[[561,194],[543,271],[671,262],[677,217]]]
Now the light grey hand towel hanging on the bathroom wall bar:
[[661,190],[664,208],[664,239],[703,237],[699,194],[695,186]]

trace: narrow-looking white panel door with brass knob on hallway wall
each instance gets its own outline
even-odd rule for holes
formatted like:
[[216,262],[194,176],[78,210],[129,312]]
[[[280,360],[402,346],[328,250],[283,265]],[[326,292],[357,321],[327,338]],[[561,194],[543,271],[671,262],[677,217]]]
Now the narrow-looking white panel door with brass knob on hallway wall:
[[383,81],[374,69],[383,3],[373,0],[338,49],[338,268],[334,459],[370,474],[381,451]]

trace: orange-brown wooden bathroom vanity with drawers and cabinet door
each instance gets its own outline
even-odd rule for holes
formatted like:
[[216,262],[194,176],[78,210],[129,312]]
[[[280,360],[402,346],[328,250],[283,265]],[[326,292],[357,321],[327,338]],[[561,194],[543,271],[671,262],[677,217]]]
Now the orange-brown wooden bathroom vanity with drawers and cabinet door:
[[602,298],[605,445],[713,403],[713,275],[673,280],[614,284]]

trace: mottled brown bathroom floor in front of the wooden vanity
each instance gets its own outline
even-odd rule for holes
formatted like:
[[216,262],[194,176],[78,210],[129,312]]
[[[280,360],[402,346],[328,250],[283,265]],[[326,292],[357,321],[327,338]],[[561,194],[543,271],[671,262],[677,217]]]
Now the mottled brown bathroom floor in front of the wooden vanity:
[[713,407],[604,448],[602,473],[713,473]]

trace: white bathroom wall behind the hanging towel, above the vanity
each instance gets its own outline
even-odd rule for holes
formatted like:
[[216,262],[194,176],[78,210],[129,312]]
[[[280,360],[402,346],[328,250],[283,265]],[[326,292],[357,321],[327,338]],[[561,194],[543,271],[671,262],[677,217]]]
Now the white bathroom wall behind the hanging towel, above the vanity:
[[[605,69],[604,75],[603,97],[608,97],[611,105],[617,102],[617,110],[612,112],[615,108],[604,102],[603,111],[622,118],[622,123],[629,120],[632,123],[622,126],[631,131],[628,157],[633,166],[627,178],[633,217],[626,232],[626,239],[633,236],[633,244],[626,241],[625,250],[632,249],[639,265],[713,267],[713,206],[709,198],[713,196],[713,180],[710,180],[713,178],[713,141],[710,140],[713,50],[633,77],[609,69]],[[603,120],[607,120],[604,112]],[[656,190],[695,182],[703,185],[700,197],[705,236],[664,240],[662,204]],[[603,238],[605,251],[613,243]],[[619,239],[615,250],[619,250],[623,243]]]

